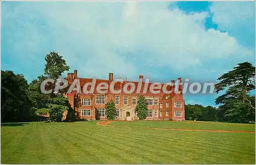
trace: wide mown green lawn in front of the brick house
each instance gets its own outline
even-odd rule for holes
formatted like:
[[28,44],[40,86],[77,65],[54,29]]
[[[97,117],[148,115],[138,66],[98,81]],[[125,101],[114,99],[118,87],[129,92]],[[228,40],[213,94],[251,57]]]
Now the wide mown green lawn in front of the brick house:
[[254,124],[96,122],[2,124],[2,163],[255,163],[255,133],[145,129],[254,131]]

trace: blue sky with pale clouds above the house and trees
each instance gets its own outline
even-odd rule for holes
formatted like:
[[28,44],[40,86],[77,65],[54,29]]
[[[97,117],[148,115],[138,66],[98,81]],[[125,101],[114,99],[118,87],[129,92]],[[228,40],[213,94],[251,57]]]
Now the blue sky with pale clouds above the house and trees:
[[[52,50],[78,77],[100,79],[216,83],[238,63],[255,65],[254,2],[1,3],[1,69],[28,82]],[[184,94],[190,104],[217,97]]]

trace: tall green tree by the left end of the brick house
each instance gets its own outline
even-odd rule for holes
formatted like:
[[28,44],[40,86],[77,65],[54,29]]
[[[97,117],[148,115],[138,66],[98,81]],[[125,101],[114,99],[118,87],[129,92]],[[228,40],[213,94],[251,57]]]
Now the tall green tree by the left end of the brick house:
[[[63,97],[63,92],[65,91],[61,90],[60,93],[55,94],[53,93],[53,89],[56,79],[59,78],[64,71],[68,71],[70,67],[67,66],[62,56],[55,51],[46,54],[45,60],[45,75],[41,75],[31,82],[28,95],[33,103],[32,109],[34,109],[37,114],[48,113],[51,121],[61,121],[63,112],[72,108],[68,99]],[[52,89],[52,93],[43,94],[40,91],[40,85],[41,82],[47,78],[52,78],[55,82],[54,84],[49,83],[46,85],[48,90]]]

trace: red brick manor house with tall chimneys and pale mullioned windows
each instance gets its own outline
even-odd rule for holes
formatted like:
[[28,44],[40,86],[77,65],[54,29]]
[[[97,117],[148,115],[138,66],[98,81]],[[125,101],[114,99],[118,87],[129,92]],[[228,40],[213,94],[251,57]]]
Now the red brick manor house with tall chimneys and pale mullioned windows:
[[[137,114],[135,108],[137,105],[137,97],[143,95],[147,101],[147,117],[146,120],[185,120],[185,109],[184,109],[184,99],[182,94],[182,86],[178,87],[180,94],[176,94],[174,91],[175,80],[171,80],[173,85],[168,85],[166,87],[167,91],[172,89],[172,93],[165,94],[163,90],[160,90],[160,93],[153,94],[150,92],[150,86],[152,82],[148,83],[147,91],[142,93],[144,90],[145,82],[143,82],[143,75],[139,76],[139,81],[134,82],[135,90],[131,94],[126,94],[121,90],[118,94],[113,94],[110,92],[110,88],[106,91],[106,94],[99,94],[96,90],[96,87],[101,82],[106,82],[110,84],[114,80],[113,73],[109,73],[109,79],[96,79],[95,89],[90,94],[83,93],[83,86],[88,82],[92,82],[92,78],[79,78],[77,77],[77,70],[74,70],[74,73],[68,73],[66,77],[69,85],[72,84],[74,79],[79,79],[81,86],[80,93],[80,106],[76,109],[76,112],[79,114],[81,119],[88,120],[106,120],[105,117],[105,107],[106,103],[111,99],[115,103],[116,107],[116,120],[137,120]],[[178,78],[178,81],[181,82],[181,78]],[[114,85],[115,90],[120,90],[127,83],[132,81],[124,80],[122,83],[116,81]],[[140,93],[137,92],[138,84],[141,84]],[[162,84],[163,86],[163,84]],[[130,91],[131,86],[127,86],[127,91]],[[87,86],[89,91],[91,86]],[[70,94],[65,94],[65,97],[68,97],[69,102],[74,106],[74,96],[76,91],[72,91]],[[65,113],[66,114],[66,113]],[[63,116],[63,119],[66,118],[66,115]]]

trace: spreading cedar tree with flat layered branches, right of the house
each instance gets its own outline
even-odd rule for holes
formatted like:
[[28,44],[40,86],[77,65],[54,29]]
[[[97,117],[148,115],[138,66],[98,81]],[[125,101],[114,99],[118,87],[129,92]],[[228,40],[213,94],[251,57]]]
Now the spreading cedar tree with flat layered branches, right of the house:
[[255,96],[250,96],[255,89],[255,67],[249,62],[239,63],[233,70],[222,74],[216,84],[216,93],[226,91],[216,98],[216,104],[221,104],[220,109],[224,118],[230,122],[248,122],[255,118],[255,106],[252,103]]

